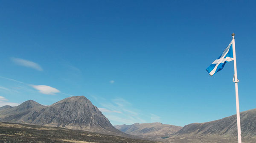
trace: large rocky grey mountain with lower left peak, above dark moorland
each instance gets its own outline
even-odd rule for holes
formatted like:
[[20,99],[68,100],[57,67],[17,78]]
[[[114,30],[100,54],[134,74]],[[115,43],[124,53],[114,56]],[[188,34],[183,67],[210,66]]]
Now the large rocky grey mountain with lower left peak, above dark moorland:
[[50,106],[29,100],[17,107],[1,107],[0,121],[134,137],[115,129],[108,118],[84,96],[65,98]]

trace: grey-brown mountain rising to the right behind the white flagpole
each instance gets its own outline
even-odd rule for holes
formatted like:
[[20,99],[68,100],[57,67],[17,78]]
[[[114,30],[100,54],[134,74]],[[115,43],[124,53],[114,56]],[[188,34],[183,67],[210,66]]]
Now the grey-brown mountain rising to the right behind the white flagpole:
[[[256,109],[241,112],[240,121],[242,138],[256,137]],[[184,126],[174,135],[174,137],[189,136],[225,136],[236,138],[236,115],[207,123],[191,123]]]

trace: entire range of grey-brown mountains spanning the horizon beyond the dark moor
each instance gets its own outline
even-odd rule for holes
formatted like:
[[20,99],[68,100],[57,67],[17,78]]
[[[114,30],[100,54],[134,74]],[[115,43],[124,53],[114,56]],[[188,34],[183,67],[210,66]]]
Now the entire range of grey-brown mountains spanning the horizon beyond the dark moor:
[[[246,141],[243,143],[255,143],[256,109],[240,112],[240,119],[242,140]],[[6,121],[144,138],[166,143],[232,143],[237,138],[236,115],[205,123],[191,123],[184,127],[163,123],[112,126],[108,118],[84,96],[72,96],[49,106],[28,100],[17,107],[0,107],[0,122]]]

